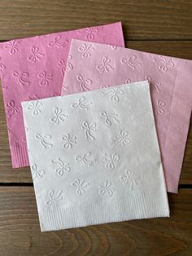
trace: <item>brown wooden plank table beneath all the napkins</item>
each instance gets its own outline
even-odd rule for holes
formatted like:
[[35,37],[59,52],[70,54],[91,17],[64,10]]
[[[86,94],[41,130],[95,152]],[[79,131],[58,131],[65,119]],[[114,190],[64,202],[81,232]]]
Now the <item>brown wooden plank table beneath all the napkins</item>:
[[[0,42],[118,20],[126,46],[192,60],[190,0],[0,0]],[[29,168],[11,168],[1,91],[0,256],[192,255],[191,170],[190,126],[179,193],[168,195],[171,218],[41,233]]]

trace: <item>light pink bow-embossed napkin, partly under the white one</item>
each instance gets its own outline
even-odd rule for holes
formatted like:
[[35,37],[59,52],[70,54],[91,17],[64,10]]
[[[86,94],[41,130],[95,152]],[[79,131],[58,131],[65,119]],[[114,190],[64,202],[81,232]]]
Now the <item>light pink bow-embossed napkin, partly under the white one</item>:
[[[80,40],[72,40],[69,55],[73,69],[64,77],[63,95],[143,79],[151,82],[167,188],[177,192],[190,125],[192,61]],[[120,93],[111,88],[103,100],[118,104]]]

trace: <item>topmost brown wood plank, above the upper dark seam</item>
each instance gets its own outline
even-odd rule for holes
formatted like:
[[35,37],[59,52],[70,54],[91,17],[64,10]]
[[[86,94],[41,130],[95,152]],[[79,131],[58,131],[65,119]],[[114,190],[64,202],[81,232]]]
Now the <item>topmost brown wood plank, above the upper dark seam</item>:
[[126,39],[192,39],[189,0],[3,0],[0,40],[121,20]]

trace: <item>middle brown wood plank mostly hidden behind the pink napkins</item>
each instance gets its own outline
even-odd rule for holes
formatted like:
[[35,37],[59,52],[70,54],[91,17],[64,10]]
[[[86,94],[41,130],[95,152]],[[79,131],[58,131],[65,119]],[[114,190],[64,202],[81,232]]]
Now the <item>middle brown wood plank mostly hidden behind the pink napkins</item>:
[[[141,51],[150,51],[162,55],[187,58],[192,60],[191,42],[126,42],[126,46]],[[192,184],[192,122],[187,139],[185,159],[181,174],[181,184]],[[7,125],[2,103],[2,90],[0,90],[0,183],[32,183],[28,167],[20,169],[11,168],[11,155],[8,144]]]

